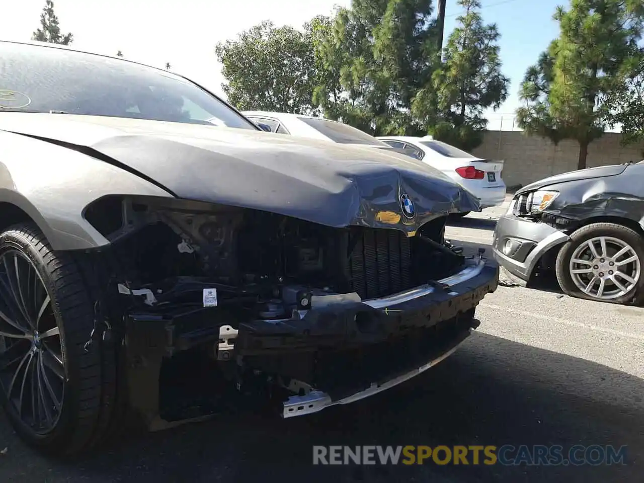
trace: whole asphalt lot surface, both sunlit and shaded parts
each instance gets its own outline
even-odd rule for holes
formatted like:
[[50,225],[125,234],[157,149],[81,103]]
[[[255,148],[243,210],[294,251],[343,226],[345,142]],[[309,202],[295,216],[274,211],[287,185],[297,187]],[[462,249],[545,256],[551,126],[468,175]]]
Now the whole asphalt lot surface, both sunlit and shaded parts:
[[[486,210],[452,223],[489,247]],[[489,250],[488,250],[489,251]],[[504,279],[504,276],[501,276]],[[499,287],[453,356],[393,390],[309,417],[222,416],[132,437],[75,464],[25,448],[0,415],[0,482],[639,482],[644,466],[644,308]],[[204,381],[207,383],[207,381]],[[313,445],[627,445],[623,466],[312,466]]]

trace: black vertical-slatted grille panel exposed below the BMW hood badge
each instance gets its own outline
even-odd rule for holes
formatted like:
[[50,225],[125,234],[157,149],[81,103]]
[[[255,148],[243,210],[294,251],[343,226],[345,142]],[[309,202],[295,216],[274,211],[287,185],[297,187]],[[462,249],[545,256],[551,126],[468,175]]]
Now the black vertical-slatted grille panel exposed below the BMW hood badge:
[[383,297],[412,287],[410,239],[391,229],[352,232],[346,267],[351,290],[361,298]]

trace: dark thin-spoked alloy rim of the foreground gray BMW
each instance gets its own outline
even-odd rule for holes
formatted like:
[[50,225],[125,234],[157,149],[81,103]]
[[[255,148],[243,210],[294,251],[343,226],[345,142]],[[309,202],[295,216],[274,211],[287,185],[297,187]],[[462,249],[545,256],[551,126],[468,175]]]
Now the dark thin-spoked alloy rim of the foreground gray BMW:
[[61,415],[65,369],[52,302],[32,261],[0,254],[0,391],[8,410],[34,433],[53,430]]

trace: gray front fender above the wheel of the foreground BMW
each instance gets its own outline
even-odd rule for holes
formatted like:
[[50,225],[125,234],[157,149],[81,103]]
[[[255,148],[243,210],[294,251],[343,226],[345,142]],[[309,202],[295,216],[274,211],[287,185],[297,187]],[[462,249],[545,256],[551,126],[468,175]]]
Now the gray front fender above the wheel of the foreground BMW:
[[44,140],[0,131],[0,146],[0,202],[28,214],[54,250],[109,245],[83,217],[84,208],[102,196],[173,198],[133,173]]

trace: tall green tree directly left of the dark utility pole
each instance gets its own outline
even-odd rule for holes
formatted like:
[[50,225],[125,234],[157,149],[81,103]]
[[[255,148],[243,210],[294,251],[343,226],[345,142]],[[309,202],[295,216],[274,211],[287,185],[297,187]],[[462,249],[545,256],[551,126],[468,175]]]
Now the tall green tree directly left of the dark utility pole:
[[337,10],[316,44],[316,61],[333,73],[316,86],[317,106],[374,135],[417,133],[410,104],[431,77],[431,13],[431,0],[354,0]]

